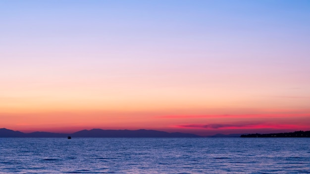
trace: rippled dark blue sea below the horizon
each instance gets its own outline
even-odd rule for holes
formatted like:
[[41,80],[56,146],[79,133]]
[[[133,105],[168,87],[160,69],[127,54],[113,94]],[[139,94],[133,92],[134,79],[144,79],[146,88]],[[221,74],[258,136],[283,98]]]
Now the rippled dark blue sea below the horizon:
[[309,174],[310,138],[0,138],[0,174]]

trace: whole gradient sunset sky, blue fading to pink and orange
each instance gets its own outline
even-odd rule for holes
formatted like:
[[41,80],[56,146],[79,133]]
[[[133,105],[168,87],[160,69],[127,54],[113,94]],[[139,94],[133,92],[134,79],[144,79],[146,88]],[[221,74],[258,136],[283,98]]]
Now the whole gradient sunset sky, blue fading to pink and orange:
[[0,0],[0,127],[310,130],[309,0]]

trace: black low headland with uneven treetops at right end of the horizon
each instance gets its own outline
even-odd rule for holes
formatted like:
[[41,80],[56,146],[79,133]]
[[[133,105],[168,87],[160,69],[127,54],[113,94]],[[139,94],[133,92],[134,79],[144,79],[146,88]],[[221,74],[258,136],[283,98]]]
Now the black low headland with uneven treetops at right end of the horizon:
[[243,138],[296,138],[296,137],[310,137],[310,131],[294,131],[288,133],[268,133],[268,134],[244,134]]

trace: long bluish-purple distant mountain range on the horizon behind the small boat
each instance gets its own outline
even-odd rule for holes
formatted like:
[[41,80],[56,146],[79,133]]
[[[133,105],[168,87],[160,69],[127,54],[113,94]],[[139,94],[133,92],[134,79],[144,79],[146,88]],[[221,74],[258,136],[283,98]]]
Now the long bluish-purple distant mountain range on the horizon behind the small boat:
[[23,133],[20,131],[12,131],[5,128],[0,129],[0,137],[202,137],[192,133],[181,133],[174,132],[169,133],[165,131],[154,131],[154,130],[83,130],[74,133],[52,133],[36,131],[31,133]]

